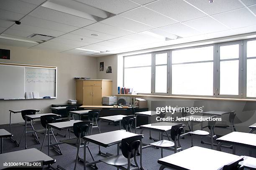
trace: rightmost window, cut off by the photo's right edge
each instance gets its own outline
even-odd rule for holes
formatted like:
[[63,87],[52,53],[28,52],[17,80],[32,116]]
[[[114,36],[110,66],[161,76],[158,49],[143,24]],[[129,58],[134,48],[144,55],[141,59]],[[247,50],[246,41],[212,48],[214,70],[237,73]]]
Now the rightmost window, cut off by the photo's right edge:
[[256,97],[256,40],[247,42],[246,97]]

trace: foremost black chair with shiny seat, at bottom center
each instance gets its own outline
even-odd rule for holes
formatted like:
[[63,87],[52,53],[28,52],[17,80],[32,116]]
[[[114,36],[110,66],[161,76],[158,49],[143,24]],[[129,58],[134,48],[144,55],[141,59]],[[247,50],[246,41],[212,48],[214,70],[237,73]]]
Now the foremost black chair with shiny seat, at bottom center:
[[[141,144],[141,138],[143,138],[143,135],[136,135],[122,139],[122,155],[113,155],[107,158],[103,158],[100,161],[108,165],[113,165],[116,168],[122,170],[130,170],[131,163],[133,162],[134,159],[135,165],[133,165],[132,170],[139,170],[140,168],[136,160],[136,153],[138,151],[138,147]],[[127,168],[123,167],[125,165],[127,165]]]

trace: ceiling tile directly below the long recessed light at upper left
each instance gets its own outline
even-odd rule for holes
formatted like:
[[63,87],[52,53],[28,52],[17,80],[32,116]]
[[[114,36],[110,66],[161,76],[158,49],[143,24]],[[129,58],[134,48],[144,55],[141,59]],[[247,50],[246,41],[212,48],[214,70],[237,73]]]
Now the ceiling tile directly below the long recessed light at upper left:
[[31,13],[30,16],[54,21],[56,23],[67,24],[79,28],[95,23],[95,21],[92,20],[87,20],[85,18],[77,17],[67,13],[61,13],[59,11],[51,10],[46,7],[39,7],[37,10],[33,11],[33,13]]

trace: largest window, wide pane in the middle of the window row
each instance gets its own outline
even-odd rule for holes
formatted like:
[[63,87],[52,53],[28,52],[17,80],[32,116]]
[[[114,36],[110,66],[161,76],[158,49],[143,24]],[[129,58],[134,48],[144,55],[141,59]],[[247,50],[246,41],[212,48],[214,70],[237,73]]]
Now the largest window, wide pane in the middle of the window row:
[[213,96],[213,48],[172,51],[172,94]]

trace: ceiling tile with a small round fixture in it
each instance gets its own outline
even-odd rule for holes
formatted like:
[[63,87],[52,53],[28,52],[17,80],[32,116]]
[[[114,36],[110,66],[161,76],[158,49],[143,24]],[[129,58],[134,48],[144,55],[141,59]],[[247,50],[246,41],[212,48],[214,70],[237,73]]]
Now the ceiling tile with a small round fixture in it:
[[95,38],[100,39],[100,40],[109,40],[109,39],[117,37],[117,36],[114,36],[114,35],[104,34],[104,33],[101,33],[101,32],[87,30],[87,29],[84,29],[84,28],[80,28],[78,30],[75,30],[75,31],[72,32],[72,34],[83,35],[85,37],[94,37],[94,36],[92,36],[92,34],[98,34],[99,36],[97,36]]

